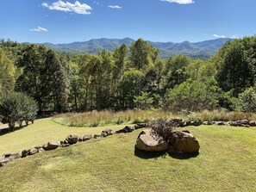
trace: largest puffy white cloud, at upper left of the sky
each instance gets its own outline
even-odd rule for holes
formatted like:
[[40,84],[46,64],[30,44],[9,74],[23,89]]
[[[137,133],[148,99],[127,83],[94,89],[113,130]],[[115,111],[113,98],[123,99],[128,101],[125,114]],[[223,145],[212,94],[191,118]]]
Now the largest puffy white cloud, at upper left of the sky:
[[75,12],[77,14],[83,14],[83,15],[88,15],[91,14],[89,10],[91,10],[91,7],[88,4],[85,3],[80,3],[76,1],[75,3],[69,3],[69,2],[54,2],[52,4],[48,3],[42,3],[41,4],[43,7],[46,7],[50,10],[60,10],[60,11],[65,11],[65,12]]

